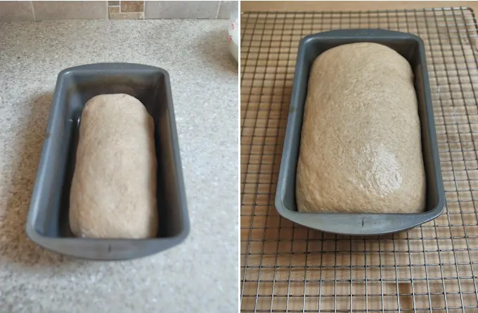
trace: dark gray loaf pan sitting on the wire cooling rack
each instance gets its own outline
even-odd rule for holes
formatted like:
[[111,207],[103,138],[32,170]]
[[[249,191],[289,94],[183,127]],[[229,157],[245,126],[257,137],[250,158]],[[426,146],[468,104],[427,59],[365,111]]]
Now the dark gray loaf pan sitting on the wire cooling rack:
[[[295,201],[295,173],[302,130],[302,114],[307,82],[312,63],[321,53],[335,46],[356,42],[374,42],[394,49],[410,62],[415,74],[422,128],[422,150],[427,175],[427,206],[423,213],[413,214],[345,214],[299,213]],[[321,121],[317,121],[320,123]],[[327,149],[327,147],[324,147]],[[434,126],[432,99],[429,89],[425,47],[413,34],[385,29],[340,29],[304,37],[299,44],[290,111],[278,186],[276,208],[284,218],[323,232],[347,235],[377,235],[400,232],[437,218],[445,206],[441,178],[437,134]]]

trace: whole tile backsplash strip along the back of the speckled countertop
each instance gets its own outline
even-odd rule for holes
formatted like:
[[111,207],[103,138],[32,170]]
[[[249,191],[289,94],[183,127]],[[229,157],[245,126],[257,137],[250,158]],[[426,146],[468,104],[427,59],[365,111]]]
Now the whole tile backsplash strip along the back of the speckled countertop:
[[0,22],[229,18],[238,1],[0,1]]

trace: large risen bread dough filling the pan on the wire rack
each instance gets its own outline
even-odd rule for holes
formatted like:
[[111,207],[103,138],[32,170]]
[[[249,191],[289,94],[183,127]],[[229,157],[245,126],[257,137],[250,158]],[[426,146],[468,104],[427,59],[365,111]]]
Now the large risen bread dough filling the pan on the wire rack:
[[372,43],[314,61],[297,164],[299,212],[418,213],[425,208],[411,65]]

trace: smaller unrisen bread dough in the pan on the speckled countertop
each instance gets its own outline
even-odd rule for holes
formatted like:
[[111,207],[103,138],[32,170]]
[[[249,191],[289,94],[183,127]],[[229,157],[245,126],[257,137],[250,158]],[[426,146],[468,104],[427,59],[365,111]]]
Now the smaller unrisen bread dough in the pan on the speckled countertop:
[[131,95],[98,95],[82,112],[70,190],[77,237],[144,239],[157,234],[154,121]]

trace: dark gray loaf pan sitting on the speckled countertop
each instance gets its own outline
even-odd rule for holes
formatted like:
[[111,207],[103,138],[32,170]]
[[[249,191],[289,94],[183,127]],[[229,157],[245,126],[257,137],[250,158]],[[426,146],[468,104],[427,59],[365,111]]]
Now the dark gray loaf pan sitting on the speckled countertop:
[[[83,239],[74,237],[70,231],[70,184],[75,168],[79,118],[86,101],[105,93],[132,95],[143,102],[153,116],[160,222],[156,238]],[[26,232],[39,246],[89,260],[141,258],[176,246],[187,237],[186,192],[169,74],[164,69],[127,63],[101,63],[60,72]]]

